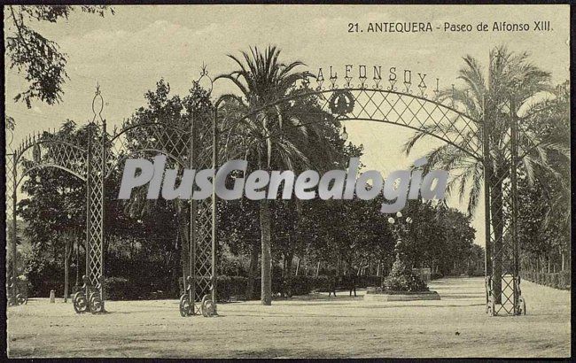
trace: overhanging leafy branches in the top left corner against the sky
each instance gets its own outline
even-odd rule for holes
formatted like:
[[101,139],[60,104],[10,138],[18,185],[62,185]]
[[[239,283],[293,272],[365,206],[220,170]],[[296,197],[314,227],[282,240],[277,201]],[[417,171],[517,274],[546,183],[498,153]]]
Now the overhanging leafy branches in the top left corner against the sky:
[[32,100],[47,104],[62,100],[62,85],[67,78],[66,54],[58,44],[35,30],[35,23],[56,23],[68,19],[74,11],[97,14],[104,17],[113,8],[107,5],[8,5],[4,7],[4,45],[10,59],[10,68],[26,73],[28,89],[20,92],[14,101],[23,101],[31,107]]

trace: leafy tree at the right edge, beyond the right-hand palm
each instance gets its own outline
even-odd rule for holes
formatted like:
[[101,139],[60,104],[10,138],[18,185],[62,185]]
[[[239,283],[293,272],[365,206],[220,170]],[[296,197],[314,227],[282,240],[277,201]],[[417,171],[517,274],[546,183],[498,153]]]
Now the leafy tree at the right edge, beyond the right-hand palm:
[[[547,103],[534,104],[523,120],[526,132],[540,140],[557,140],[564,152],[549,151],[550,168],[522,170],[518,180],[518,240],[527,258],[523,268],[535,269],[547,262],[565,266],[570,259],[570,92],[567,82],[557,86],[557,97]],[[541,174],[531,183],[528,173]],[[534,260],[539,260],[534,263]]]

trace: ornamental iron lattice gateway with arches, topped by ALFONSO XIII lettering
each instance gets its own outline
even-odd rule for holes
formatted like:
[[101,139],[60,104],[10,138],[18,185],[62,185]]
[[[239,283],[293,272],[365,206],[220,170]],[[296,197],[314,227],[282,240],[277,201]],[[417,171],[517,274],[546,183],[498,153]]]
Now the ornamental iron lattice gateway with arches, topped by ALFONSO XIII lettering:
[[[236,120],[221,120],[219,108],[230,95],[219,97],[211,110],[211,120],[201,120],[198,114],[191,112],[190,129],[183,129],[166,122],[154,121],[141,124],[124,124],[120,131],[106,131],[106,121],[102,117],[104,100],[97,87],[92,102],[93,120],[90,122],[88,145],[82,147],[72,140],[48,140],[40,135],[27,137],[20,147],[7,154],[7,219],[12,221],[16,230],[16,190],[17,167],[24,152],[35,151],[39,156],[53,162],[43,166],[54,166],[80,177],[87,185],[87,225],[86,225],[86,275],[84,289],[74,296],[74,310],[77,313],[90,311],[104,312],[104,251],[105,240],[105,180],[113,173],[124,158],[142,154],[165,154],[184,167],[204,169],[216,168],[224,158],[230,157],[230,135],[237,131],[238,125],[258,112],[268,110],[280,104],[291,103],[302,97],[315,97],[322,112],[332,115],[340,121],[365,120],[377,121],[422,131],[465,152],[471,158],[482,162],[485,174],[485,227],[486,227],[486,312],[490,314],[525,313],[525,301],[521,296],[518,274],[518,233],[517,219],[517,178],[520,159],[518,158],[518,138],[527,137],[522,127],[518,127],[518,116],[514,100],[510,98],[509,120],[500,125],[506,137],[503,144],[494,145],[491,137],[494,132],[483,116],[473,118],[458,110],[450,97],[440,99],[437,82],[435,95],[428,98],[422,84],[418,85],[419,95],[411,91],[411,83],[404,82],[405,90],[398,91],[396,80],[389,80],[390,86],[384,88],[375,79],[368,86],[365,78],[361,83],[351,83],[346,77],[344,87],[339,88],[337,78],[331,77],[331,85],[323,88],[323,80],[316,80],[317,87],[311,88],[305,78],[300,92],[284,97],[271,104],[245,113]],[[212,90],[213,81],[203,66],[200,82],[204,89]],[[454,87],[453,87],[454,89]],[[317,120],[315,120],[317,122]],[[303,125],[300,125],[303,126]],[[299,126],[296,126],[299,127]],[[130,135],[146,135],[140,144],[131,144]],[[219,135],[225,135],[220,139]],[[482,137],[475,137],[482,135]],[[92,136],[97,142],[92,143]],[[270,136],[266,136],[270,137]],[[50,143],[53,155],[46,154],[42,145]],[[501,154],[495,150],[503,151]],[[38,150],[40,150],[38,152]],[[529,152],[529,151],[525,151]],[[494,155],[493,155],[494,154]],[[493,157],[504,156],[505,162],[494,170]],[[34,159],[34,158],[33,158]],[[41,158],[37,158],[41,159]],[[76,164],[72,165],[76,161]],[[80,163],[78,163],[80,162]],[[33,167],[43,167],[33,166]],[[502,172],[502,170],[504,172]],[[213,183],[214,184],[214,183]],[[498,193],[491,190],[499,189]],[[180,313],[189,316],[201,312],[205,316],[216,313],[216,195],[213,185],[212,197],[204,200],[191,200],[189,203],[190,221],[188,241],[189,255],[183,266],[183,295],[180,298]],[[11,207],[12,206],[12,207]],[[11,209],[12,208],[12,209]],[[497,216],[498,218],[494,218]],[[16,256],[15,233],[12,233],[12,256]],[[15,261],[15,259],[12,259]],[[9,271],[16,275],[16,266]],[[13,285],[13,284],[12,284]],[[11,285],[11,286],[12,286]],[[12,294],[15,296],[15,294]],[[198,305],[198,307],[197,307]]]

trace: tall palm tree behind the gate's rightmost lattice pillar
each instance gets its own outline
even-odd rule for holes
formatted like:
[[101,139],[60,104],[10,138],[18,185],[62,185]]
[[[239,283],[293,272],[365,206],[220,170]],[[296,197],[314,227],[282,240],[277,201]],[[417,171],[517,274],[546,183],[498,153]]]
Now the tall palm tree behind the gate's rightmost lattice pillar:
[[[468,212],[475,211],[479,204],[479,196],[484,182],[484,167],[482,160],[471,158],[465,151],[471,150],[470,145],[481,145],[484,140],[482,121],[486,122],[490,143],[491,171],[488,181],[491,190],[492,228],[494,230],[494,293],[495,302],[501,303],[502,291],[502,239],[503,236],[503,189],[504,181],[510,177],[510,112],[526,106],[530,108],[534,103],[534,96],[541,92],[552,92],[549,85],[550,73],[533,66],[529,62],[528,53],[515,53],[507,50],[505,46],[495,47],[490,51],[487,72],[479,61],[471,56],[463,58],[464,66],[459,71],[458,78],[464,82],[462,89],[450,89],[440,92],[439,100],[452,97],[456,104],[462,105],[465,113],[474,121],[468,130],[463,132],[460,143],[444,144],[427,154],[426,168],[441,168],[444,170],[458,170],[448,182],[448,195],[458,193],[463,201],[468,192]],[[510,97],[513,102],[510,102]],[[432,127],[437,127],[432,125]],[[440,124],[439,128],[454,133],[454,127]],[[417,131],[412,138],[404,144],[403,151],[407,154],[412,147],[424,137],[428,136],[425,130]],[[440,131],[441,132],[441,131]],[[549,169],[546,155],[549,151],[558,150],[559,145],[553,140],[535,140],[531,133],[523,133],[518,139],[518,155],[521,167],[524,168],[529,182],[538,177],[538,170]],[[486,246],[488,253],[489,246]],[[491,267],[488,267],[491,268]]]

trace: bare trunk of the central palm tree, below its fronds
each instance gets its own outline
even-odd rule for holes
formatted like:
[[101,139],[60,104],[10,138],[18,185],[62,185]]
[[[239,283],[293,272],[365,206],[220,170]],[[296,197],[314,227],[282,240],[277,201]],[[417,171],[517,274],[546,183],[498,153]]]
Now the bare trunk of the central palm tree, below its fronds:
[[260,229],[261,229],[261,303],[272,305],[272,259],[271,259],[271,220],[268,199],[261,199],[260,203]]

